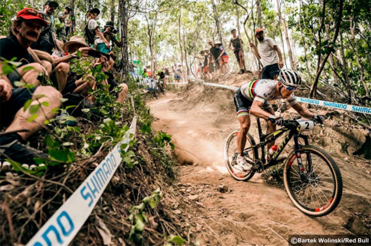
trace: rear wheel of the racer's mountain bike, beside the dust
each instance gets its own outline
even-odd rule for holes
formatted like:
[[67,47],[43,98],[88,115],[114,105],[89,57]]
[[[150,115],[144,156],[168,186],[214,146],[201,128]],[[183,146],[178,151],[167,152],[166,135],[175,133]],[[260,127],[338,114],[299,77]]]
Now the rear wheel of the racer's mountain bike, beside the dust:
[[[226,143],[224,144],[224,161],[226,163],[229,174],[234,179],[239,181],[247,181],[254,176],[255,171],[251,170],[249,172],[245,172],[236,163],[237,136],[239,132],[240,130],[234,130],[227,137]],[[249,133],[247,133],[245,149],[253,145],[255,145],[255,140]],[[255,160],[258,159],[257,149],[249,149],[244,151],[244,156],[251,162],[255,162]]]

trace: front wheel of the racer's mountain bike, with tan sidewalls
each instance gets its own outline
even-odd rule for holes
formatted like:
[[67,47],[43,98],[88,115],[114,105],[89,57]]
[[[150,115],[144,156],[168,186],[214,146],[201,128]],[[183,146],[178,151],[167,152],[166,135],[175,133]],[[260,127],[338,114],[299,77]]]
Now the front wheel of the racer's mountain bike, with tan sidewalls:
[[291,152],[283,171],[286,192],[304,214],[319,217],[334,211],[342,195],[341,173],[334,159],[319,147],[302,146],[300,156],[307,180],[302,180],[295,152]]

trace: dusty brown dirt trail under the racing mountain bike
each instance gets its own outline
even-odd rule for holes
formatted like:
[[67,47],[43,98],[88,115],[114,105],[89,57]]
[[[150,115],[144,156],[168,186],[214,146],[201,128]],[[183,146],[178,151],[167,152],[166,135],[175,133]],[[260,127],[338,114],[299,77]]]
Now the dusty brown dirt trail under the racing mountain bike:
[[[224,140],[239,126],[230,103],[232,93],[217,89],[211,96],[203,93],[198,86],[188,90],[187,98],[168,92],[148,102],[158,118],[154,128],[171,134],[177,147],[197,156],[177,150],[181,162],[188,163],[181,166],[181,199],[193,207],[193,214],[183,216],[195,219],[191,233],[200,245],[287,245],[289,234],[371,232],[366,226],[371,220],[370,175],[349,167],[354,159],[334,156],[344,178],[343,198],[335,212],[321,218],[299,212],[285,190],[263,182],[259,174],[249,182],[234,180],[223,160]],[[256,122],[250,129],[256,134]],[[220,183],[229,190],[219,192]],[[357,212],[367,213],[368,222],[362,222]]]

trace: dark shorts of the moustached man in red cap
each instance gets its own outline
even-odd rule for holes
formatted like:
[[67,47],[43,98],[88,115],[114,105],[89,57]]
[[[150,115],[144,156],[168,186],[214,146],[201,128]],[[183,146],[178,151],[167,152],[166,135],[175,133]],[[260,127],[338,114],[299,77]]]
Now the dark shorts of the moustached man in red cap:
[[26,88],[12,89],[12,96],[6,102],[0,102],[1,120],[0,125],[7,127],[12,123],[16,113],[22,109],[24,103],[32,98],[32,94],[37,87],[30,89],[31,93]]

